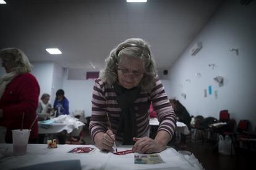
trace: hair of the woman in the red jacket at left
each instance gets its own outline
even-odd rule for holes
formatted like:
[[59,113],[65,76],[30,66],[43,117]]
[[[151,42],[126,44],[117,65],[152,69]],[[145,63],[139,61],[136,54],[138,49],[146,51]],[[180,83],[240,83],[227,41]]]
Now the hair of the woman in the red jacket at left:
[[12,68],[12,71],[19,75],[30,72],[33,67],[29,62],[27,55],[17,48],[1,49],[0,58],[12,60],[15,65],[15,67]]

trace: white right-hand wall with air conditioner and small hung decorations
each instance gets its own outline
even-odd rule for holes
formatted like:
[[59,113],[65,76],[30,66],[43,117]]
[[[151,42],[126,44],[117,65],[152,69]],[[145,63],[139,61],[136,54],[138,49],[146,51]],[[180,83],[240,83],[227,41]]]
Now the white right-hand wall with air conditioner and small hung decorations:
[[[255,1],[249,6],[242,6],[239,1],[226,1],[169,69],[171,97],[179,99],[191,115],[219,118],[220,110],[228,109],[231,118],[237,122],[249,119],[255,127],[255,9]],[[189,49],[198,41],[202,41],[203,48],[192,56]],[[238,48],[239,55],[229,48]],[[208,67],[211,63],[216,64],[215,69]],[[202,74],[201,78],[195,76],[198,72]],[[213,80],[218,75],[224,77],[223,87],[218,87]],[[203,89],[208,92],[209,85],[213,94],[207,94],[205,98]],[[218,99],[215,99],[215,90]],[[187,94],[187,99],[182,99],[182,92]]]

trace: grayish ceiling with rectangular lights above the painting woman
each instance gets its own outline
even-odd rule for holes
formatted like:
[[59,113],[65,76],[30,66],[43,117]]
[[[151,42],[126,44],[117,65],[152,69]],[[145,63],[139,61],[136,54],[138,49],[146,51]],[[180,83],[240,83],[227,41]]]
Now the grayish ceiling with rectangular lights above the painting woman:
[[[19,47],[30,62],[98,71],[117,44],[143,38],[159,71],[181,56],[223,0],[6,2],[0,4],[0,48]],[[48,47],[58,47],[62,54],[50,55]]]

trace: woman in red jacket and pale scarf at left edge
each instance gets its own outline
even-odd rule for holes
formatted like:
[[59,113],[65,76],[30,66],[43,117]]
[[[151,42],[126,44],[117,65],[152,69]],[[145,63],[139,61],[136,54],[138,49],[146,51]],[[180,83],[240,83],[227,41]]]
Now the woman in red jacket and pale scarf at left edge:
[[[12,129],[28,129],[36,118],[36,108],[40,87],[31,75],[32,65],[27,56],[16,48],[0,51],[2,67],[6,75],[0,79],[0,126],[7,127],[6,143],[12,143]],[[30,132],[29,143],[35,143],[38,136],[38,124]]]

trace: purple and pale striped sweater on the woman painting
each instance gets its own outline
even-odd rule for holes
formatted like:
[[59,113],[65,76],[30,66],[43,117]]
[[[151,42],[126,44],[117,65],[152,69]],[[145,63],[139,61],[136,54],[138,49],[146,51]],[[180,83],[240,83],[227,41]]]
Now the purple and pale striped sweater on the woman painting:
[[[139,97],[134,101],[137,134],[138,137],[141,137],[149,129],[150,116],[148,110],[150,102],[152,102],[158,114],[158,121],[160,121],[158,131],[166,131],[173,137],[176,128],[176,115],[164,92],[160,79],[156,78],[155,81],[155,87],[150,93],[141,91]],[[112,130],[116,134],[121,113],[121,108],[119,108],[116,100],[116,92],[113,86],[109,86],[101,79],[96,79],[93,87],[92,118],[89,126],[93,141],[98,132],[106,132],[108,130],[106,112],[109,115]],[[116,140],[122,141],[122,136],[116,136]]]

